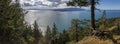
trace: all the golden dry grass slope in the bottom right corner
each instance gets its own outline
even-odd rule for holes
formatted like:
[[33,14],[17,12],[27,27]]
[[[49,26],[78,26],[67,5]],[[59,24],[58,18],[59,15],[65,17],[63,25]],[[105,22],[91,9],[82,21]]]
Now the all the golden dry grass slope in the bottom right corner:
[[[109,31],[115,30],[115,28],[116,26],[113,26],[109,28]],[[77,44],[120,44],[120,35],[112,32],[112,34],[107,35],[107,38],[101,38],[98,36],[86,36]]]

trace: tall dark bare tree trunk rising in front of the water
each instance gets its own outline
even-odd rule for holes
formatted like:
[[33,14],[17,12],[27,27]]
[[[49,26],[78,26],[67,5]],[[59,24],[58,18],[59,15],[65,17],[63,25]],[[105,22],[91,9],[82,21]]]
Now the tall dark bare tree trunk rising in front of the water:
[[95,30],[95,0],[91,0],[91,27]]

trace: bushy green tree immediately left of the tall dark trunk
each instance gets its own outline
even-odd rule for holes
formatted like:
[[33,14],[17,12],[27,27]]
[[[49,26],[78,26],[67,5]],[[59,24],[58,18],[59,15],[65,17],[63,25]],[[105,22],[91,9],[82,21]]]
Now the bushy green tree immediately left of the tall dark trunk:
[[78,41],[89,34],[88,20],[73,19],[71,28],[68,30],[70,41]]

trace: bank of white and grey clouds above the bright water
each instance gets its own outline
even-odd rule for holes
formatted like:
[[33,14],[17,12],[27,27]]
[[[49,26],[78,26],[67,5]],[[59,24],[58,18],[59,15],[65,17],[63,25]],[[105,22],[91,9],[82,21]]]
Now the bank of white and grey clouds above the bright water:
[[20,0],[22,7],[67,7],[66,2],[69,0]]

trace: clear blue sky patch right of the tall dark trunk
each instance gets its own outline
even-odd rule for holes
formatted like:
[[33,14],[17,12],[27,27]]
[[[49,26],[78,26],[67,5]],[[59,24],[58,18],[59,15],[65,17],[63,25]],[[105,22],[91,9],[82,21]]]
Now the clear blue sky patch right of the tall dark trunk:
[[120,10],[120,0],[100,0],[100,9]]

